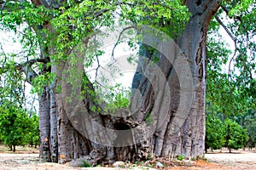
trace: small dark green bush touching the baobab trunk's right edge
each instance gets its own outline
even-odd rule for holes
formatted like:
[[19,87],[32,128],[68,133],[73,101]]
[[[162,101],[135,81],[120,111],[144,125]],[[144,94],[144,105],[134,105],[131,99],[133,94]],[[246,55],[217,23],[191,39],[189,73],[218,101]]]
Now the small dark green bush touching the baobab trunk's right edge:
[[224,146],[224,123],[218,117],[207,114],[206,122],[206,150],[221,149]]

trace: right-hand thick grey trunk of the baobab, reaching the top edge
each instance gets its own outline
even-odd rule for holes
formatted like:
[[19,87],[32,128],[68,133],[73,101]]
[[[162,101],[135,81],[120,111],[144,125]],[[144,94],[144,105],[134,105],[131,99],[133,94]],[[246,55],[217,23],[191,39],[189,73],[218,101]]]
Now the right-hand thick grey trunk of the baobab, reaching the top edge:
[[[157,65],[166,77],[170,92],[167,92],[168,88],[165,83],[157,82],[157,77],[160,75],[151,67],[150,60],[154,60],[154,55],[148,53],[147,48],[148,45],[154,47],[153,43],[143,44],[143,57],[138,62],[136,75],[132,82],[132,88],[136,88],[140,92],[139,94],[143,95],[139,97],[137,93],[133,93],[131,98],[131,110],[140,108],[140,111],[134,116],[135,120],[145,120],[149,113],[154,120],[160,122],[159,125],[151,128],[154,129],[154,133],[146,139],[147,142],[144,144],[147,146],[138,148],[138,150],[147,150],[147,153],[153,153],[154,156],[203,156],[207,28],[212,14],[218,10],[220,1],[186,1],[185,4],[192,16],[183,34],[176,41],[182,54],[179,54],[177,48],[171,49],[170,53],[175,57],[170,63],[170,59],[166,59],[168,54],[161,54],[161,47],[158,48],[160,54]],[[151,41],[155,43],[161,41],[157,37],[149,35],[148,39],[150,38],[153,38]],[[145,58],[149,60],[148,63],[145,62]],[[180,68],[186,66],[183,63],[187,63],[186,65],[189,66],[191,82],[186,68]],[[147,76],[148,73],[154,75]],[[186,84],[189,84],[191,88],[186,87]],[[154,88],[156,86],[164,86],[164,88]],[[163,89],[164,93],[162,93]],[[191,90],[191,94],[189,94],[189,90]],[[185,93],[186,91],[188,93]],[[171,97],[170,105],[166,105],[164,100],[166,94]],[[187,99],[190,95],[191,98],[183,101],[183,95]]]

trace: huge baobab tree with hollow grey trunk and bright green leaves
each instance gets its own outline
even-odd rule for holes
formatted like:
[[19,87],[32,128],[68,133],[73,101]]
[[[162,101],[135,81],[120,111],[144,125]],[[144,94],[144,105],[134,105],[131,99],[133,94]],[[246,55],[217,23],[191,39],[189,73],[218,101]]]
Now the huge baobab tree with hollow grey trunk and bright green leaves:
[[[2,26],[19,32],[18,27],[25,25],[26,50],[24,62],[12,62],[15,66],[9,67],[3,59],[1,73],[23,71],[38,90],[40,156],[61,163],[80,157],[111,163],[149,155],[203,156],[210,21],[219,8],[227,14],[233,9],[235,19],[240,10],[255,8],[247,1],[221,0],[1,4]],[[111,116],[103,113],[104,105],[84,71],[84,60],[79,59],[84,59],[81,52],[89,50],[96,32],[102,26],[113,28],[117,16],[125,26],[133,24],[143,40],[130,105],[116,113],[120,116]],[[149,125],[148,116],[154,120]]]

